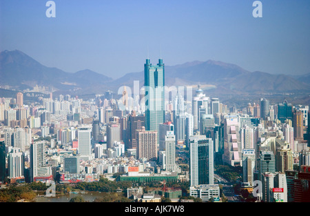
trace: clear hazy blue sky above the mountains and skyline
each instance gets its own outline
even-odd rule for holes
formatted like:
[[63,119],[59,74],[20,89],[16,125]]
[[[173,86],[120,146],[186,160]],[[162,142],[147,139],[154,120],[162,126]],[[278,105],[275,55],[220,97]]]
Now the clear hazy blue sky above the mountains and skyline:
[[[67,72],[112,78],[143,70],[162,53],[166,66],[209,59],[249,71],[310,72],[310,1],[261,0],[0,1],[0,50],[21,50]],[[160,51],[162,50],[162,52]]]

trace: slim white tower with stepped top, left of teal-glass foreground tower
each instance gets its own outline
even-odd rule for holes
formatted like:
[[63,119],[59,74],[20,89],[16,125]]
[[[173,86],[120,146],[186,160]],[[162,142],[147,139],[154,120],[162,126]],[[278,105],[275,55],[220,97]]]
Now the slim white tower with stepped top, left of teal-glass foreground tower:
[[166,170],[176,171],[176,136],[174,131],[167,131],[167,135],[165,135],[165,156]]

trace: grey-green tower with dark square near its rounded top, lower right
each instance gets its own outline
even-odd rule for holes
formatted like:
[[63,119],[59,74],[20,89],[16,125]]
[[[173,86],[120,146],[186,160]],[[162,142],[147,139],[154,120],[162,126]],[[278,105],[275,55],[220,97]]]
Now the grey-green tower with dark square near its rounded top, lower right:
[[266,172],[276,172],[276,159],[271,151],[261,151],[258,158],[258,178],[260,181]]

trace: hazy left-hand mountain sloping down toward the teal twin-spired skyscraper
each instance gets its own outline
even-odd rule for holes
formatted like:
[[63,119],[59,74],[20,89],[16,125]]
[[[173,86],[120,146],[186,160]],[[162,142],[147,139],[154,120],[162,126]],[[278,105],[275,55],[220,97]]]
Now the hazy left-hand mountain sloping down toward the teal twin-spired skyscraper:
[[70,90],[102,85],[111,80],[112,78],[92,70],[70,73],[58,68],[48,68],[19,50],[0,53],[0,84],[20,88],[41,85]]

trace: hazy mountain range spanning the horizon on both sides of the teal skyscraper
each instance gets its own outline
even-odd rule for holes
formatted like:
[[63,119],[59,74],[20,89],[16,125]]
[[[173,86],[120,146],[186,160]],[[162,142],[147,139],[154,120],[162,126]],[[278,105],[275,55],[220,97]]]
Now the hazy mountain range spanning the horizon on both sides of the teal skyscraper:
[[[141,66],[143,68],[143,66]],[[108,71],[105,72],[108,74]],[[121,86],[132,87],[138,80],[144,84],[144,73],[131,72],[112,79],[92,70],[65,72],[43,66],[20,50],[0,52],[0,85],[19,90],[34,86],[48,86],[61,94],[103,94],[105,90],[117,93]],[[196,86],[220,94],[265,94],[273,92],[309,92],[310,73],[301,76],[273,75],[267,72],[249,72],[232,63],[222,61],[192,61],[176,66],[165,66],[166,86]]]

